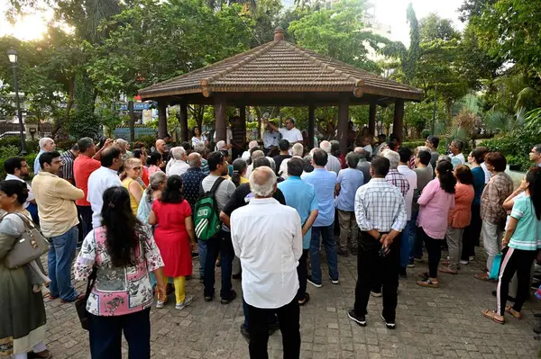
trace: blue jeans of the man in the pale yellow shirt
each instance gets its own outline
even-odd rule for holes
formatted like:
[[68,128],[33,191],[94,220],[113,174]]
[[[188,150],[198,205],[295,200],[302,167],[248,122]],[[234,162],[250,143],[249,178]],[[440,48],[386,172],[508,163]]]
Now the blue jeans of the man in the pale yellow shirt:
[[75,257],[78,241],[78,228],[72,227],[66,233],[50,237],[49,278],[50,295],[64,301],[74,301],[78,293],[71,285],[71,262]]

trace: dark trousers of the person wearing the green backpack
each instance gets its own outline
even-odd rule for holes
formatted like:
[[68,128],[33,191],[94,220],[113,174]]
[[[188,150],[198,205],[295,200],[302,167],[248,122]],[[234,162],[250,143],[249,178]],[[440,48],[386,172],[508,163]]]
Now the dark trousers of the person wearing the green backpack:
[[[215,238],[206,241],[205,260],[205,296],[214,297],[215,263],[219,254],[222,254],[222,289],[220,296],[223,300],[231,299],[231,271],[233,270],[234,249],[231,242],[231,232],[220,230]],[[201,256],[201,254],[199,254]]]

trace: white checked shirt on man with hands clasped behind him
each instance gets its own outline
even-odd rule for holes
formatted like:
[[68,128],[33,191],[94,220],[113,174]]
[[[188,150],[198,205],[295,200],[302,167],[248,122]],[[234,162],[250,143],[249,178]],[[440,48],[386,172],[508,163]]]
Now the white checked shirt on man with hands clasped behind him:
[[401,231],[407,221],[404,196],[384,178],[372,178],[355,193],[355,218],[362,231]]

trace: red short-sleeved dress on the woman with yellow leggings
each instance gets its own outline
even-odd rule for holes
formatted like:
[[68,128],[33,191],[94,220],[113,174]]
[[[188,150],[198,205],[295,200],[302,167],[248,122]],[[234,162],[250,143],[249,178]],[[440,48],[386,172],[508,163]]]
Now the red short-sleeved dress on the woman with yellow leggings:
[[163,203],[159,200],[152,204],[156,215],[154,240],[160,248],[167,277],[191,275],[193,271],[189,237],[184,220],[191,215],[188,201]]

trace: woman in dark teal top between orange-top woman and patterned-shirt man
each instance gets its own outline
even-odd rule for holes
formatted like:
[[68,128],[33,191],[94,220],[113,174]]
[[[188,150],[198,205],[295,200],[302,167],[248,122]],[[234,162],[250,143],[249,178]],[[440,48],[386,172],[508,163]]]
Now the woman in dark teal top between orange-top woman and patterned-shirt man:
[[468,162],[472,166],[473,175],[473,190],[475,196],[472,202],[472,221],[470,225],[464,229],[463,234],[463,251],[461,255],[461,265],[467,265],[475,256],[475,247],[479,246],[479,238],[481,237],[481,194],[484,189],[484,171],[481,163],[484,162],[484,156],[487,154],[486,148],[475,148],[468,155]]

